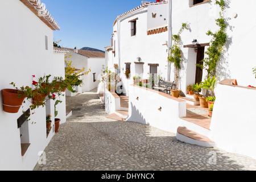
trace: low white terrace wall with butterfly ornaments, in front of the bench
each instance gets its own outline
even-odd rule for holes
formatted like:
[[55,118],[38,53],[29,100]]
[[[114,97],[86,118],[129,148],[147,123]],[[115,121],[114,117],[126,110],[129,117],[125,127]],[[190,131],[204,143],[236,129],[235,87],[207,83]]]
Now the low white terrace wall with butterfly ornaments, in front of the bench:
[[[161,111],[158,110],[160,107],[162,107]],[[184,100],[165,93],[159,94],[152,89],[130,85],[127,121],[139,122],[176,133],[180,117],[185,115],[186,102]]]

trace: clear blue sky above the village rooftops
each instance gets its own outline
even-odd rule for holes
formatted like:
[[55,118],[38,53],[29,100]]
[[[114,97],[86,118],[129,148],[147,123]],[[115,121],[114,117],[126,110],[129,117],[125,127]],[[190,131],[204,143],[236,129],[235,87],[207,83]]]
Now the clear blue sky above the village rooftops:
[[[110,46],[113,23],[118,15],[141,5],[141,0],[41,0],[60,25],[53,39],[68,48]],[[155,1],[150,1],[155,2]]]

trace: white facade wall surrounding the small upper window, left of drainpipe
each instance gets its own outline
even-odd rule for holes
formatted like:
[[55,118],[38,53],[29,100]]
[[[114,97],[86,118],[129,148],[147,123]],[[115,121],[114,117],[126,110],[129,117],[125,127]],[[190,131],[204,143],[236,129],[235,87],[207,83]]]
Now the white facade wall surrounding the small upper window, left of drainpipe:
[[[155,5],[160,6],[160,5]],[[162,5],[161,5],[162,6]],[[164,7],[163,7],[164,6]],[[161,8],[168,10],[168,5],[163,5]],[[141,78],[147,79],[150,75],[150,64],[159,64],[158,72],[163,73],[163,79],[167,80],[167,56],[168,47],[163,46],[168,41],[168,32],[162,32],[160,34],[147,35],[148,27],[148,13],[151,14],[152,11],[147,11],[144,8],[134,13],[130,13],[123,18],[118,19],[115,26],[117,26],[117,34],[119,34],[119,52],[116,52],[116,56],[119,56],[121,69],[120,76],[122,80],[126,80],[125,77],[125,63],[131,63],[131,79],[136,75],[136,72],[140,73],[143,69],[143,73],[140,74]],[[129,20],[138,18],[137,20],[137,34],[131,36],[131,23]],[[115,27],[114,27],[115,30]],[[116,39],[118,36],[114,36]],[[116,41],[117,42],[117,41]],[[137,62],[137,57],[141,57],[141,61],[144,63],[139,68],[134,62]],[[135,68],[136,67],[136,68]],[[135,71],[136,70],[136,71]],[[126,81],[123,81],[126,82]],[[124,92],[128,93],[128,86],[124,86]]]

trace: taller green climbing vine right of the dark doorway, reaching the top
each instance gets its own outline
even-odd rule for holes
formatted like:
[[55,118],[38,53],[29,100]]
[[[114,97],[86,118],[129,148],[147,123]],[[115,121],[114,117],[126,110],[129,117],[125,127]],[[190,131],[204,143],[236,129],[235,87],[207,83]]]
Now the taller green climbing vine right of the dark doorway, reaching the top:
[[210,40],[210,46],[208,47],[207,51],[205,54],[208,55],[205,59],[203,59],[203,65],[197,64],[198,67],[203,69],[204,67],[207,67],[207,78],[213,77],[216,75],[216,67],[218,60],[220,60],[220,56],[222,52],[224,52],[224,46],[226,43],[227,39],[227,34],[226,34],[226,24],[225,24],[225,19],[224,19],[224,9],[225,9],[225,1],[216,0],[216,4],[220,6],[221,11],[220,11],[220,17],[216,19],[216,24],[219,28],[219,30],[215,33],[212,31],[208,31],[207,35],[212,36],[212,40]]

